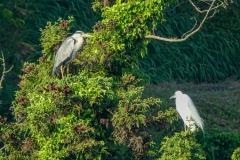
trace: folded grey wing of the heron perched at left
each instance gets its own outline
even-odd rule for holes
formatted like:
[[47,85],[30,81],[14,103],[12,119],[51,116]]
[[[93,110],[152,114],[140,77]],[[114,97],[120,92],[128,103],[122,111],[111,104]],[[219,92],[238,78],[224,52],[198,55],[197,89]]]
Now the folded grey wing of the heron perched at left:
[[64,65],[66,62],[71,60],[71,54],[74,49],[75,39],[68,37],[60,46],[52,70],[52,75],[54,75],[60,68],[61,65]]

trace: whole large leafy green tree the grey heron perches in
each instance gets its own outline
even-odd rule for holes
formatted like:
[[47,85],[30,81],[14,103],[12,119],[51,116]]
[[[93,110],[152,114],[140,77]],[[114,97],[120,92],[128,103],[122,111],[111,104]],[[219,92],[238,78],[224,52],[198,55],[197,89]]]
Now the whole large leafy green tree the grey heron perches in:
[[[105,8],[103,20],[94,27],[94,38],[87,40],[73,64],[75,70],[63,79],[50,77],[49,72],[53,53],[66,37],[72,18],[59,19],[41,29],[43,56],[38,64],[24,65],[26,74],[20,77],[13,106],[16,122],[2,128],[5,157],[115,157],[111,145],[128,145],[136,158],[144,156],[150,135],[141,128],[147,126],[150,107],[160,103],[158,98],[142,99],[147,81],[137,68],[148,43],[143,36],[163,19],[161,11],[151,12],[152,3],[132,1]],[[167,5],[155,4],[157,8]],[[145,15],[140,16],[144,6],[149,9],[145,8]],[[129,20],[120,14],[130,10]],[[115,16],[109,16],[112,12]],[[132,29],[126,34],[128,27]],[[118,156],[121,159],[124,154]]]

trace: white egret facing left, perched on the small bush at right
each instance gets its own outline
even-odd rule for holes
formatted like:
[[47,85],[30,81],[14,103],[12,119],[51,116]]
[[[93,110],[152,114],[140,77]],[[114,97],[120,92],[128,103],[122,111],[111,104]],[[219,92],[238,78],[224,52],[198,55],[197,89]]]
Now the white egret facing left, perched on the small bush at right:
[[176,91],[170,99],[171,98],[176,98],[176,109],[183,119],[184,124],[187,125],[191,131],[195,130],[195,124],[203,131],[203,120],[199,116],[197,108],[191,98],[181,91]]

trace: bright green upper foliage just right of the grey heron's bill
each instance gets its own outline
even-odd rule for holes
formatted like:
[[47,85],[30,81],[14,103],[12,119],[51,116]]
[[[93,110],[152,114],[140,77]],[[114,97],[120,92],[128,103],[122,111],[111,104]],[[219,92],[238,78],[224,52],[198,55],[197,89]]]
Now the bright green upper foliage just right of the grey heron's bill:
[[85,48],[82,63],[100,64],[111,75],[138,70],[149,43],[143,37],[164,21],[163,8],[173,2],[136,0],[103,8],[103,20],[93,27],[94,38]]

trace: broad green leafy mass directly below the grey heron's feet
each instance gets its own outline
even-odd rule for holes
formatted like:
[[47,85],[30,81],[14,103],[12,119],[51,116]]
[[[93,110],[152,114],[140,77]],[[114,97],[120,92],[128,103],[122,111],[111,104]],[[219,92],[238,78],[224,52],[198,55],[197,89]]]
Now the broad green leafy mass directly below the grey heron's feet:
[[105,142],[99,119],[113,105],[111,82],[111,78],[89,79],[86,75],[64,80],[46,78],[32,86],[32,92],[18,94],[16,123],[2,129],[8,158],[101,157]]

